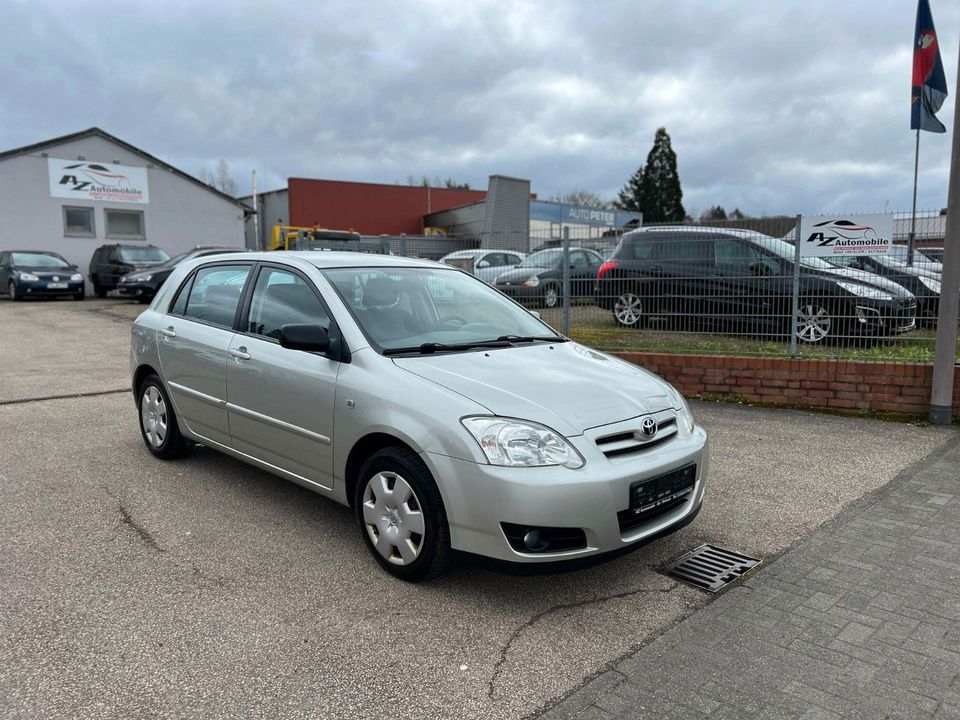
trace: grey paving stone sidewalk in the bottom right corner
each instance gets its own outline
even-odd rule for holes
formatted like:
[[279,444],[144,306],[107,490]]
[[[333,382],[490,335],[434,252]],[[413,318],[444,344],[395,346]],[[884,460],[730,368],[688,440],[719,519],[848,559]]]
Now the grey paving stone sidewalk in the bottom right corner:
[[960,718],[958,534],[953,440],[541,720]]

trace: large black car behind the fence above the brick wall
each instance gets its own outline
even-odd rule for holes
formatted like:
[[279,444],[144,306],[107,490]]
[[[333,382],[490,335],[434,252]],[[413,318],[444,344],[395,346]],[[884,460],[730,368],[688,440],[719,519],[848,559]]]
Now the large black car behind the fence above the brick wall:
[[[597,273],[597,304],[623,326],[650,317],[790,333],[794,248],[752,230],[644,228],[623,236]],[[916,327],[917,301],[876,275],[815,257],[800,264],[797,338],[817,343]]]

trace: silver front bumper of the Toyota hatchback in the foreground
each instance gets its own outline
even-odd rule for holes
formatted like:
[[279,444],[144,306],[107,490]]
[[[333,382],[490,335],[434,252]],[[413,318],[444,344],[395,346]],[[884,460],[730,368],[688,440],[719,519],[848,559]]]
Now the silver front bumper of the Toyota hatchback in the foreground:
[[[628,550],[689,522],[703,502],[706,432],[696,427],[644,453],[606,457],[597,448],[596,437],[616,433],[619,426],[626,429],[629,422],[567,438],[586,460],[578,470],[507,468],[423,453],[440,485],[452,547],[510,563],[569,563]],[[681,504],[621,530],[617,514],[630,507],[633,483],[688,465],[696,465],[696,480]],[[519,552],[507,540],[501,523],[579,528],[586,546],[563,552]]]

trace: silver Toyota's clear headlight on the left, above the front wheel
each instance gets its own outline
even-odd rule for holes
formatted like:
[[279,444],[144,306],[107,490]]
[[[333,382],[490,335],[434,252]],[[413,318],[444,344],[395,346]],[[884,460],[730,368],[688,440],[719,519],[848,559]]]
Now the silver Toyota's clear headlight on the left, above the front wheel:
[[468,417],[460,422],[473,435],[491,465],[583,467],[584,460],[573,445],[543,425],[501,417]]

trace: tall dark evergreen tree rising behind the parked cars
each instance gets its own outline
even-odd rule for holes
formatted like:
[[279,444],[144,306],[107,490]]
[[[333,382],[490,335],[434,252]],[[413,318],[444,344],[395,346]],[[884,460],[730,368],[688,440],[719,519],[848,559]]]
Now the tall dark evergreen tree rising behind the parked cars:
[[644,223],[679,222],[686,217],[682,199],[677,155],[666,128],[659,128],[647,164],[620,190],[619,205],[624,210],[643,213]]

